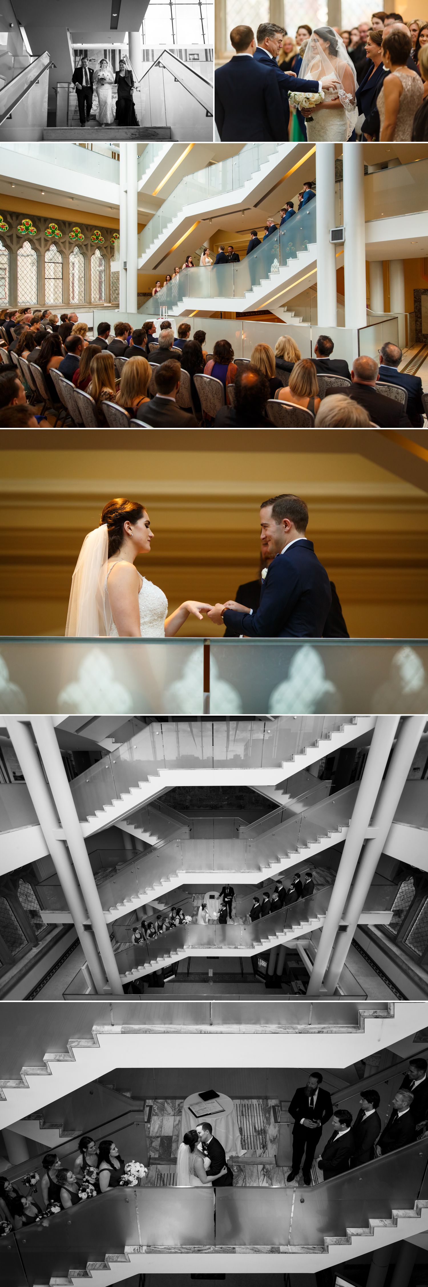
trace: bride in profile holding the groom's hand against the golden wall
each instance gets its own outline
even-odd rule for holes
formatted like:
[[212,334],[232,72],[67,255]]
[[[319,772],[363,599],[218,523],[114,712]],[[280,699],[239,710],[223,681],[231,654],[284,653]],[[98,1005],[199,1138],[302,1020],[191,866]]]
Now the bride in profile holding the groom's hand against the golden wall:
[[166,616],[164,591],[137,571],[134,561],[150,553],[152,535],[143,505],[124,499],[104,505],[72,575],[66,634],[164,638],[177,634],[191,614],[204,619],[211,605],[193,598]]

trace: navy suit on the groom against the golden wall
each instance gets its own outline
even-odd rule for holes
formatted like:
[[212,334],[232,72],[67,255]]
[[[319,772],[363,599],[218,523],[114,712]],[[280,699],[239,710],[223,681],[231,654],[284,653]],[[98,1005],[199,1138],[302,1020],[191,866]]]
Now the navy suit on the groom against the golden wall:
[[317,560],[312,541],[302,537],[271,562],[257,613],[250,615],[227,607],[223,622],[233,627],[233,634],[251,638],[321,638],[330,607],[326,570]]

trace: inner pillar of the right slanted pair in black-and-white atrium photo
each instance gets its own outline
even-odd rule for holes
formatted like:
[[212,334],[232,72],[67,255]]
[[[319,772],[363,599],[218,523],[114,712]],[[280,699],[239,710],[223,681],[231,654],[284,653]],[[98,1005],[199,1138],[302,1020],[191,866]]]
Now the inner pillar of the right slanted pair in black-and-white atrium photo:
[[[321,988],[329,956],[338,933],[343,909],[351,889],[352,878],[358,862],[364,839],[376,802],[383,772],[397,731],[398,716],[378,718],[371,739],[371,746],[360,782],[348,835],[344,842],[338,874],[333,885],[331,898],[321,931],[313,970],[308,982],[307,996],[317,996]],[[343,938],[343,934],[339,936]]]

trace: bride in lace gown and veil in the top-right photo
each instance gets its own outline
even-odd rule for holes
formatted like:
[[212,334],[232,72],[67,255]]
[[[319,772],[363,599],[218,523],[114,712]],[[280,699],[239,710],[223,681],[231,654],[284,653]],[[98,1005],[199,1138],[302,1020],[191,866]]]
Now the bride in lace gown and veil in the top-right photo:
[[308,142],[345,142],[358,120],[357,76],[353,62],[338,32],[333,27],[318,27],[309,36],[299,76],[303,80],[322,80],[331,73],[335,85],[324,90],[324,102],[302,108]]

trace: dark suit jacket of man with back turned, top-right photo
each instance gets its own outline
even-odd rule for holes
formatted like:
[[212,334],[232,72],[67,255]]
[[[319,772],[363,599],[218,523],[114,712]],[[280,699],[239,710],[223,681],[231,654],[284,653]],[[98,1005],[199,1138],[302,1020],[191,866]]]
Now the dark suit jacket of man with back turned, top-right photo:
[[[281,73],[282,75],[282,73]],[[214,72],[214,116],[222,143],[286,143],[287,118],[269,68],[231,58]]]

